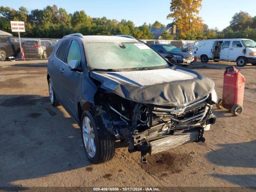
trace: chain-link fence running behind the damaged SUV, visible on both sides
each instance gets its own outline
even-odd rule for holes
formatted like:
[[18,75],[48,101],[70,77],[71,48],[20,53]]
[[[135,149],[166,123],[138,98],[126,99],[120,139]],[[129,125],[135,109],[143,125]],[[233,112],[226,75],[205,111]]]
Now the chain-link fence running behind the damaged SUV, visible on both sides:
[[[48,59],[60,39],[20,38],[25,60]],[[13,36],[0,36],[0,60],[21,60],[20,40]],[[142,40],[148,45],[171,44],[180,50],[192,51],[194,41],[190,40]]]

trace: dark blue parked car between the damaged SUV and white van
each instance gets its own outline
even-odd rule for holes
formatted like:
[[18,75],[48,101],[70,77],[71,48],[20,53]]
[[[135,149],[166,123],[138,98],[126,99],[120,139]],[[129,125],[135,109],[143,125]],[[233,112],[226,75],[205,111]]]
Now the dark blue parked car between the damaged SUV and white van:
[[187,52],[182,52],[176,46],[169,44],[154,44],[150,46],[173,64],[188,66],[194,62],[193,55]]

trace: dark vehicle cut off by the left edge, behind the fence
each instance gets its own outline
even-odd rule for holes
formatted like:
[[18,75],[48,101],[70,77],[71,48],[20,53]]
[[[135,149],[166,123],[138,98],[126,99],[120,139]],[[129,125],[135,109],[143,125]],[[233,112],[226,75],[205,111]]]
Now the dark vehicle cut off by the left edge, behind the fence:
[[[24,42],[22,41],[22,44]],[[20,54],[20,40],[14,36],[0,36],[0,60],[18,57]]]

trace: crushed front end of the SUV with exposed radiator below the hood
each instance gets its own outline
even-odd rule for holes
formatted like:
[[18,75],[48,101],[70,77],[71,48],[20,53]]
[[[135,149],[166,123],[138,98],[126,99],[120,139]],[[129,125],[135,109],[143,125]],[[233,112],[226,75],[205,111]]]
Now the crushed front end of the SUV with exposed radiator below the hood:
[[127,100],[100,89],[96,116],[116,139],[128,146],[129,152],[156,154],[189,142],[204,142],[204,130],[214,124],[212,94],[177,108]]

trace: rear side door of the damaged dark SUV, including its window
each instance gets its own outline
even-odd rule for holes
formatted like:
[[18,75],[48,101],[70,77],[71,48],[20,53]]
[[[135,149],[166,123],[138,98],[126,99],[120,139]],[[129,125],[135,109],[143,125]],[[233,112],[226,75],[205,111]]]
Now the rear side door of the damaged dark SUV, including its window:
[[64,64],[66,58],[66,52],[68,49],[68,44],[70,40],[63,41],[54,56],[50,58],[48,72],[50,74],[54,93],[58,97],[58,100],[62,101],[62,91],[61,91],[61,80],[60,74],[62,74],[62,65]]

